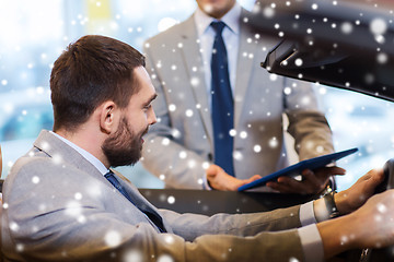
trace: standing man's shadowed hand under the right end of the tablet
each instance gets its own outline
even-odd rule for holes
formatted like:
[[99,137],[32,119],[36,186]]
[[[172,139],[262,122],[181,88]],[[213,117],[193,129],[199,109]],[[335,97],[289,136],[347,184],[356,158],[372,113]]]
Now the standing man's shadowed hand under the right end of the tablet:
[[327,186],[328,179],[334,175],[345,175],[344,168],[323,167],[315,171],[305,169],[302,171],[302,180],[299,181],[291,177],[279,177],[276,182],[267,182],[267,187],[281,193],[316,194]]

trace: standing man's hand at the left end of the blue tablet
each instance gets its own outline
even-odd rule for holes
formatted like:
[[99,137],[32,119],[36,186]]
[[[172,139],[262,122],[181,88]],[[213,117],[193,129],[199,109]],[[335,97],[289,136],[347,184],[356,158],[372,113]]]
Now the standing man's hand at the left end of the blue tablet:
[[239,187],[260,178],[260,176],[255,175],[250,179],[241,180],[230,176],[217,165],[209,166],[206,174],[209,186],[212,189],[222,191],[236,191]]

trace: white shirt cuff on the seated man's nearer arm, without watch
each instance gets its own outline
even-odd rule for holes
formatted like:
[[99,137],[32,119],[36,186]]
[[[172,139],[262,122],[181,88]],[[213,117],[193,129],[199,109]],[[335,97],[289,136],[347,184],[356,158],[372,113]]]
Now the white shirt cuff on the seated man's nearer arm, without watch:
[[315,224],[298,229],[305,262],[324,261],[322,238]]

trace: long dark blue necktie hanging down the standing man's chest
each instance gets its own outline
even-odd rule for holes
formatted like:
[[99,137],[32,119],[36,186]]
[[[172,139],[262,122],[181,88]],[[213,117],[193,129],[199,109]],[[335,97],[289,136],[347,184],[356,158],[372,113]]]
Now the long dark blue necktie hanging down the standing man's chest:
[[230,135],[230,130],[233,129],[234,105],[230,87],[228,56],[222,38],[225,24],[219,21],[212,22],[211,26],[216,31],[211,59],[215,164],[234,176],[233,138]]

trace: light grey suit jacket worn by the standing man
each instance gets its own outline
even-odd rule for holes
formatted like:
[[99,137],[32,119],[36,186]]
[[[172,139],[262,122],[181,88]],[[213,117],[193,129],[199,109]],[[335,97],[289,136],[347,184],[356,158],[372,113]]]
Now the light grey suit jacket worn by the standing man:
[[[235,176],[266,176],[288,166],[283,112],[300,159],[332,153],[332,132],[311,85],[269,74],[259,66],[280,39],[256,37],[243,22],[240,34],[233,94]],[[142,164],[170,188],[202,189],[204,166],[215,153],[199,49],[193,16],[144,44],[147,70],[159,94],[153,103],[159,121],[147,136]]]

